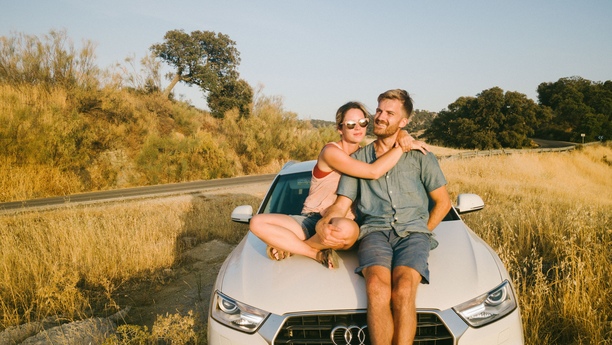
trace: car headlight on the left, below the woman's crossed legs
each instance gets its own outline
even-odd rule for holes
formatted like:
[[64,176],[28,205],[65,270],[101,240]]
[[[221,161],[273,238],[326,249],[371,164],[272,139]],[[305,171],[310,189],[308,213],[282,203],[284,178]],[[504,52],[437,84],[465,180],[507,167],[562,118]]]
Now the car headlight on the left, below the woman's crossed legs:
[[231,299],[219,291],[215,291],[210,308],[213,319],[246,333],[255,333],[270,315],[263,310]]

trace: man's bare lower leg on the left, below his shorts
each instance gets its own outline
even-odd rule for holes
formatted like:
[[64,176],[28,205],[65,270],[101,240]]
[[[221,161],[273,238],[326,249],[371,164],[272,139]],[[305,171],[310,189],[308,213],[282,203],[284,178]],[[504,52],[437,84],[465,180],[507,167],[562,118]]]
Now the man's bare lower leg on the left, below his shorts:
[[372,345],[391,344],[393,315],[391,314],[391,272],[383,266],[363,270],[368,295],[368,332]]

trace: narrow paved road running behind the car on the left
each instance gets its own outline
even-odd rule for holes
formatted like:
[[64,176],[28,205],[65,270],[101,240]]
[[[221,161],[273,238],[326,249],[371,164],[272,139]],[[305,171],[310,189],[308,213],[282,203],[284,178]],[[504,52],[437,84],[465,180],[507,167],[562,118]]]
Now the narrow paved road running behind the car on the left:
[[173,183],[156,186],[124,188],[102,192],[90,192],[67,196],[32,199],[0,203],[0,212],[29,207],[65,205],[70,203],[98,202],[112,199],[142,198],[153,195],[178,195],[200,192],[205,189],[235,187],[242,184],[271,182],[276,174],[233,177],[218,180],[203,180],[185,183]]

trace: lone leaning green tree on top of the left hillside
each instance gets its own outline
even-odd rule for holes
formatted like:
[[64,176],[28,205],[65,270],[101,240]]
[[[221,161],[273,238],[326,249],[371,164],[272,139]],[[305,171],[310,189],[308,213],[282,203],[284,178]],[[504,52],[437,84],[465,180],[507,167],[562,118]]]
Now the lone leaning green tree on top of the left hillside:
[[212,31],[187,34],[183,30],[171,30],[166,32],[164,40],[150,49],[176,69],[172,82],[164,90],[166,97],[179,81],[208,92],[238,78],[236,67],[240,53],[229,36]]

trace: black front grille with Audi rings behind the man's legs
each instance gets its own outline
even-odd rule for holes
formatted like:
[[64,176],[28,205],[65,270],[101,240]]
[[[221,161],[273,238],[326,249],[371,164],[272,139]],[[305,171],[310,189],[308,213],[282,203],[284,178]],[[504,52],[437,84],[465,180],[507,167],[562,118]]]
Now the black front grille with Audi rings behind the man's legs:
[[[452,334],[442,323],[438,315],[418,313],[417,318],[417,333],[414,344],[452,345],[454,343]],[[336,340],[335,344],[368,345],[370,344],[370,339],[368,338],[366,325],[366,313],[291,316],[285,320],[278,336],[274,340],[274,345],[333,345],[332,330],[335,328],[337,328],[333,334]],[[360,330],[362,330],[361,334]],[[345,333],[349,332],[350,335],[347,335],[352,340],[347,342],[344,336]]]

